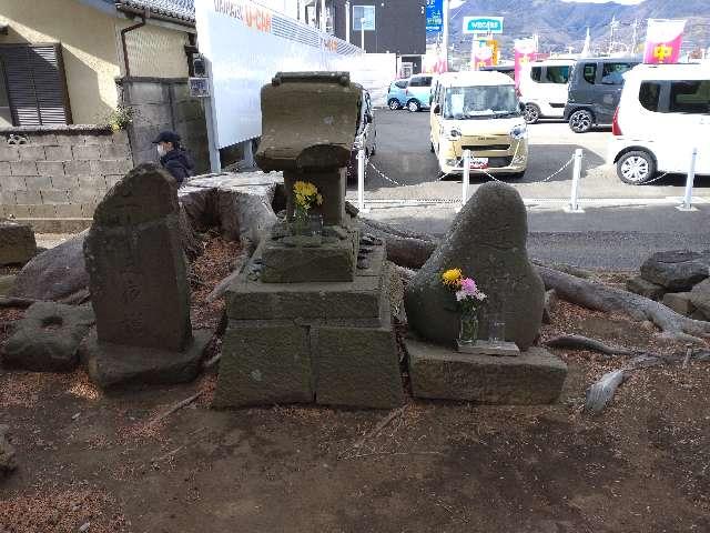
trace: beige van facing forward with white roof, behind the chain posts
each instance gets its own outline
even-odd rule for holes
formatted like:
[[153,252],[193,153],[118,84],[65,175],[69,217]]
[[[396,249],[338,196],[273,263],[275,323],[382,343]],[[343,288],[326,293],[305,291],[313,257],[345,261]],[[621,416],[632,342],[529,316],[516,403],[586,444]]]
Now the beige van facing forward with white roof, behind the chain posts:
[[432,151],[442,174],[464,172],[464,150],[471,151],[471,174],[525,174],[527,125],[515,82],[506,74],[442,74],[434,89],[430,128]]

